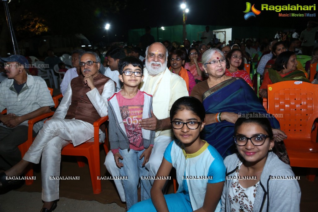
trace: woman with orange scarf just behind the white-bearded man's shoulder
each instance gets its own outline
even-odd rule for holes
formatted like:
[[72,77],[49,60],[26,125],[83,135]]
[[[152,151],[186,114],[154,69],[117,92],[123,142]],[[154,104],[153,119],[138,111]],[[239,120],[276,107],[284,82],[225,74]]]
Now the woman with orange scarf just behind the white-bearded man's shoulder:
[[185,68],[183,68],[185,61],[185,54],[180,49],[174,50],[171,55],[168,57],[168,61],[170,62],[169,70],[172,73],[178,74],[182,79],[184,79],[185,84],[187,85],[187,89],[189,95],[192,91],[194,85],[196,85],[196,81],[191,72]]

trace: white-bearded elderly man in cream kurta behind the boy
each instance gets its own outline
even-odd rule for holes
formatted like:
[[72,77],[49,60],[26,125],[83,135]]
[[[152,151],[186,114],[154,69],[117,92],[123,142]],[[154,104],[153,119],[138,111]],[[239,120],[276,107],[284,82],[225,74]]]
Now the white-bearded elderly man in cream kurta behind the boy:
[[[144,79],[140,84],[140,90],[153,96],[153,117],[142,120],[140,124],[144,129],[156,131],[154,147],[146,164],[149,176],[156,175],[163,153],[173,140],[169,118],[172,104],[180,97],[189,96],[185,81],[167,68],[167,59],[168,51],[163,44],[156,42],[147,47],[146,67],[143,71]],[[112,152],[107,154],[105,166],[110,174],[119,176],[119,168],[115,164]],[[121,201],[125,202],[121,181],[114,182]]]

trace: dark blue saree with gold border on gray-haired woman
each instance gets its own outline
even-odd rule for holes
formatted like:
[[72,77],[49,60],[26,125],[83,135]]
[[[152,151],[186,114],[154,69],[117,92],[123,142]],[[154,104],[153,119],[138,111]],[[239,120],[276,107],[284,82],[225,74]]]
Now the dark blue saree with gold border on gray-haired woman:
[[[204,92],[203,106],[206,114],[232,112],[246,114],[256,112],[267,114],[251,86],[244,79],[232,78],[215,85]],[[265,116],[265,115],[264,115]],[[280,128],[279,122],[272,115],[266,115],[273,128]],[[204,126],[201,138],[206,140],[225,158],[237,150],[233,136],[234,124],[222,121]]]

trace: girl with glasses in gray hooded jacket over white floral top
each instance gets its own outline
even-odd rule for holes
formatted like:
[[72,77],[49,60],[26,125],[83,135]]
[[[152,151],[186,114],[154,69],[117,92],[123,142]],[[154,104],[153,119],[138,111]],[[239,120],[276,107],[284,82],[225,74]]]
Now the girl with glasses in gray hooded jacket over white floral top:
[[269,120],[247,113],[235,122],[233,137],[238,153],[224,160],[222,211],[299,211],[301,190],[292,168],[272,151]]

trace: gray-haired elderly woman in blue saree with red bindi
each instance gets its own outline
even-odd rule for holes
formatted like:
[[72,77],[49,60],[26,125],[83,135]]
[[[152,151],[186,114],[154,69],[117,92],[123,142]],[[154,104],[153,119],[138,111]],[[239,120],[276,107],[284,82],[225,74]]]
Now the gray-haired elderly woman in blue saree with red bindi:
[[206,125],[201,138],[206,140],[225,158],[236,151],[233,145],[234,123],[239,116],[256,112],[267,117],[273,127],[275,147],[273,152],[289,164],[283,140],[287,138],[281,131],[279,122],[266,113],[251,86],[244,79],[225,75],[226,60],[223,52],[212,48],[202,55],[204,72],[208,79],[193,87],[191,96],[199,99],[205,109]]

